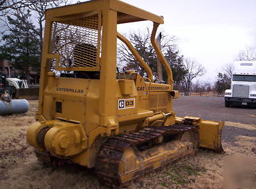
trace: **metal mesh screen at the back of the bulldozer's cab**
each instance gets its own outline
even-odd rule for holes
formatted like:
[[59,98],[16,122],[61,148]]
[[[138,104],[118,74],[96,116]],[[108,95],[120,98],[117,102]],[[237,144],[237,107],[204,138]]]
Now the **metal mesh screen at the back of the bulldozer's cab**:
[[99,44],[98,14],[83,19],[52,22],[49,53],[60,55],[58,67],[65,67],[63,61],[66,58],[72,60],[72,68],[86,70],[98,67]]

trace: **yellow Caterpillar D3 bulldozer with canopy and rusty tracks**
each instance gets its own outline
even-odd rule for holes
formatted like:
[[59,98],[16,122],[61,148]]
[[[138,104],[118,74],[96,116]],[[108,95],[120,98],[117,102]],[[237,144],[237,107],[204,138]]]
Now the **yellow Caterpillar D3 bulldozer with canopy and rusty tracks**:
[[[166,70],[165,84],[117,24],[152,22],[151,43]],[[156,43],[161,16],[118,0],[93,0],[45,12],[38,122],[26,134],[38,160],[94,168],[100,183],[125,186],[166,163],[218,153],[224,122],[178,117],[170,64]],[[117,42],[147,75],[116,71]]]

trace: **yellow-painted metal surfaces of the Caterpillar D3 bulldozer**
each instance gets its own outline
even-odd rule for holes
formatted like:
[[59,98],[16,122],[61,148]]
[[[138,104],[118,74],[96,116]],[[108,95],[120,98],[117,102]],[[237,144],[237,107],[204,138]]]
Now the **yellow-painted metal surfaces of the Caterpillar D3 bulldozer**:
[[[167,84],[154,83],[152,70],[131,43],[116,31],[117,24],[143,20],[154,23],[151,42],[166,69]],[[193,125],[198,126],[200,132],[201,146],[220,148],[222,122],[176,117],[173,112],[173,99],[178,98],[179,93],[173,91],[172,70],[155,40],[157,27],[163,22],[163,17],[118,0],[87,1],[47,10],[36,112],[36,119],[41,122],[30,126],[29,144],[52,156],[94,167],[104,137],[136,132],[143,126],[173,126],[193,119]],[[148,78],[132,71],[116,74],[117,38],[131,50]],[[63,65],[65,58],[72,59],[71,67]],[[76,71],[87,76],[58,77],[51,72],[52,63],[56,70]],[[89,72],[99,72],[99,77],[90,78]],[[121,100],[125,108],[120,108]],[[37,142],[38,132],[47,126],[49,130],[43,136],[41,148]],[[166,151],[160,146],[159,152],[150,153],[145,162],[132,160],[127,152],[124,158],[134,165],[120,165],[120,169],[131,170],[138,165],[159,167],[164,157],[179,158],[175,154],[182,148],[184,146]],[[188,153],[190,151],[184,155]],[[131,175],[125,177],[129,179]]]

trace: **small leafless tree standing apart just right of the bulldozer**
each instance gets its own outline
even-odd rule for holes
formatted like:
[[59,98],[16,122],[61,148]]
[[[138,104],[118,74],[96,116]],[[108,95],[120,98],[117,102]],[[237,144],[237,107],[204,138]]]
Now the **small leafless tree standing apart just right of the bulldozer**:
[[182,87],[184,91],[189,92],[191,81],[198,76],[204,75],[205,68],[200,63],[196,63],[192,59],[184,59],[184,68],[187,71],[184,79],[182,80]]

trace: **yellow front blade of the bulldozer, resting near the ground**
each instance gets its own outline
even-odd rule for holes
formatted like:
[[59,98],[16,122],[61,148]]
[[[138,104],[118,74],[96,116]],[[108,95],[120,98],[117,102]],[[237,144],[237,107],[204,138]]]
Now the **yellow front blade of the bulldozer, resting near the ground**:
[[176,117],[175,123],[193,125],[199,130],[200,147],[213,149],[217,153],[222,153],[221,132],[224,121],[208,121],[200,117]]

